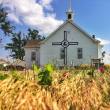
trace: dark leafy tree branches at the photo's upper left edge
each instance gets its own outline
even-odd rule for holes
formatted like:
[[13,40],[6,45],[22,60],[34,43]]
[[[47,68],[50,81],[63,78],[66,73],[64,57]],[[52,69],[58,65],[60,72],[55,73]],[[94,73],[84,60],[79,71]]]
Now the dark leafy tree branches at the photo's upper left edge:
[[14,26],[11,26],[10,22],[7,19],[8,13],[6,10],[0,5],[0,30],[2,30],[5,35],[12,34]]

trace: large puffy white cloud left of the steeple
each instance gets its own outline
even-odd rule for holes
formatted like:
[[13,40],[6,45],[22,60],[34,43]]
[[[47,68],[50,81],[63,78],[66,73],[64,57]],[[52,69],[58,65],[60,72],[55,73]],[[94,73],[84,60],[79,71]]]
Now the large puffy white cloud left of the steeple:
[[[51,2],[53,0],[0,0],[4,7],[7,7],[9,19],[40,29],[41,32],[48,34],[63,23],[56,19]],[[46,13],[45,10],[46,9]]]

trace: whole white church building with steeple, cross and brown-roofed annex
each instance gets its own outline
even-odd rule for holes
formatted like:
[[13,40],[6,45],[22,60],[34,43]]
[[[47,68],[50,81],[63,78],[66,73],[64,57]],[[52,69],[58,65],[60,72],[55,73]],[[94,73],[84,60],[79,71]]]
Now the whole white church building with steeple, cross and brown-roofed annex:
[[30,40],[25,45],[27,67],[33,63],[43,66],[91,64],[92,59],[102,58],[100,41],[74,23],[74,13],[69,7],[66,21],[45,40]]

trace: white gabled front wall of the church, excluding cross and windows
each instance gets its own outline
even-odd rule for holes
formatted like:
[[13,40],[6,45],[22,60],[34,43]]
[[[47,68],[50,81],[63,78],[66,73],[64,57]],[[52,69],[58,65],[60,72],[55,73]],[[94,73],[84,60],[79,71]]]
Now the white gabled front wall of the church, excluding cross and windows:
[[[80,32],[72,24],[68,23],[64,25],[60,30],[52,35],[44,44],[41,45],[40,49],[40,63],[41,65],[49,62],[63,61],[60,60],[60,49],[61,46],[52,46],[52,42],[61,42],[64,39],[64,31],[69,31],[68,41],[79,42],[77,45],[71,45],[68,47],[68,65],[73,61],[75,65],[79,64],[90,64],[91,58],[98,58],[98,46],[85,34]],[[77,48],[83,48],[83,59],[77,58]]]

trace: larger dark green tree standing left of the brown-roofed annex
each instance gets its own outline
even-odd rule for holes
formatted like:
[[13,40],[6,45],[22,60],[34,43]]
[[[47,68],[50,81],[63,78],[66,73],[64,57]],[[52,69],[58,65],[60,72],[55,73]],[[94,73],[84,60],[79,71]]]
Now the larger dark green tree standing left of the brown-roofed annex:
[[26,39],[23,38],[23,35],[21,34],[21,32],[19,32],[14,33],[11,40],[12,42],[7,43],[5,49],[11,51],[10,56],[12,58],[23,60],[23,57],[25,55],[23,47],[26,44]]

